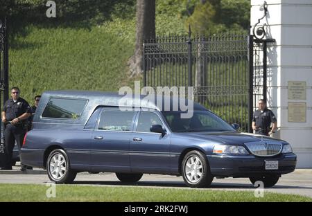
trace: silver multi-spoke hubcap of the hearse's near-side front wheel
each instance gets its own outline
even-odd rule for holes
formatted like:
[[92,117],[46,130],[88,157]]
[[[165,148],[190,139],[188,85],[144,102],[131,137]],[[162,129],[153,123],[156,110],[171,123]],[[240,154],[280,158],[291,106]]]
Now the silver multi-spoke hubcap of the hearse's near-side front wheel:
[[202,161],[198,158],[198,156],[191,156],[187,159],[187,163],[185,164],[185,174],[187,180],[191,183],[196,183],[200,181],[202,178]]

